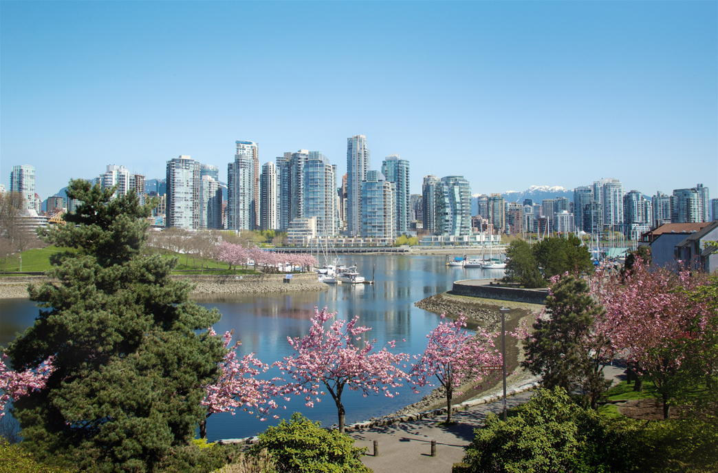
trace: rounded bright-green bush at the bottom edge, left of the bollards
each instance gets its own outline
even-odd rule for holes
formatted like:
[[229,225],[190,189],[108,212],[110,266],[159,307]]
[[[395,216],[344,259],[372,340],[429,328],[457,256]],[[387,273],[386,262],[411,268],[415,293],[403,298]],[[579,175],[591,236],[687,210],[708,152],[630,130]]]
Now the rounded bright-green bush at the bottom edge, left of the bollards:
[[259,434],[259,444],[250,455],[257,457],[263,449],[275,459],[279,472],[371,472],[360,460],[365,448],[355,448],[349,436],[321,428],[300,413],[294,413],[289,423],[282,420]]

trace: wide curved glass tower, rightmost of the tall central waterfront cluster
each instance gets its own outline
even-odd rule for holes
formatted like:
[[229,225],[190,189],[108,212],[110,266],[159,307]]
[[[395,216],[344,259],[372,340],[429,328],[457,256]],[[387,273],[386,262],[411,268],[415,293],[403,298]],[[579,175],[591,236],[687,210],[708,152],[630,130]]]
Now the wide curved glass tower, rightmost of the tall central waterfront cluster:
[[[465,236],[471,234],[471,186],[464,176],[441,178],[434,191],[436,234]],[[503,198],[502,198],[503,199]],[[503,215],[503,203],[501,213]]]

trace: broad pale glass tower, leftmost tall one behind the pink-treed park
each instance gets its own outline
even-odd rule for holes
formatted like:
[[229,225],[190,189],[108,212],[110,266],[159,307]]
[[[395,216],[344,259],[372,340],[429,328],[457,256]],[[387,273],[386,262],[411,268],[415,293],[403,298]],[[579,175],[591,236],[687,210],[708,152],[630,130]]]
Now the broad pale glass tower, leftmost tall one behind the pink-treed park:
[[196,229],[199,215],[200,163],[180,155],[167,161],[167,209],[164,226],[175,229]]

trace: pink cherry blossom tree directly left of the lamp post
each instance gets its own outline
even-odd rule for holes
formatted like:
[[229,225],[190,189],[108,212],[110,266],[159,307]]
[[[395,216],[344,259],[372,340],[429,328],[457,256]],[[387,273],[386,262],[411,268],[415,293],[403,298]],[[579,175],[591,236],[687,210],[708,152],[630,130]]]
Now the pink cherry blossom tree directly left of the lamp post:
[[[442,313],[442,318],[444,314]],[[468,380],[479,382],[488,375],[488,367],[501,364],[501,354],[492,350],[493,336],[484,329],[471,334],[465,329],[466,317],[460,314],[455,321],[439,322],[439,326],[427,335],[429,344],[411,365],[409,375],[416,387],[432,385],[435,376],[444,387],[447,400],[447,422],[451,422],[452,398]]]

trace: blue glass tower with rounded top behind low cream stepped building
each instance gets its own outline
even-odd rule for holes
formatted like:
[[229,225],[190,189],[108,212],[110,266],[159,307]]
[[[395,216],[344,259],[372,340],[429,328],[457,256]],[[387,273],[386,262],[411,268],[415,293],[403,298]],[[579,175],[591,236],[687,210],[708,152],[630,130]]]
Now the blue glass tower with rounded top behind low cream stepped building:
[[317,220],[317,237],[334,237],[337,233],[337,167],[320,152],[310,152],[304,164],[302,218]]

